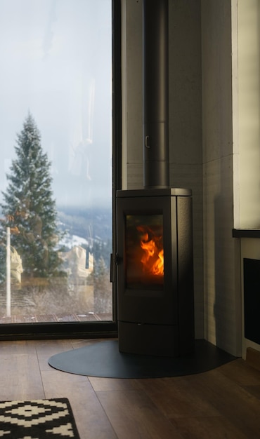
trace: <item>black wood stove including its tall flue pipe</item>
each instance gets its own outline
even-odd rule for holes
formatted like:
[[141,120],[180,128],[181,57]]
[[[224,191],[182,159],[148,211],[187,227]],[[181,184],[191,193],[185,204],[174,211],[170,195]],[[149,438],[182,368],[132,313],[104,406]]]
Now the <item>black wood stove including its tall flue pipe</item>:
[[144,189],[117,192],[119,351],[194,350],[190,189],[169,187],[168,3],[143,0]]

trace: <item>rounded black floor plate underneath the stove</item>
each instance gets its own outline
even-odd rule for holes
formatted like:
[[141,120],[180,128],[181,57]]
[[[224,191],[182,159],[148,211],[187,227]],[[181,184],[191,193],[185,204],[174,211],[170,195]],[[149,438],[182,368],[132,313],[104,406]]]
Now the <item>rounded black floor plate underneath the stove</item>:
[[117,340],[106,340],[57,353],[48,364],[63,372],[89,377],[159,378],[206,372],[232,360],[234,356],[205,340],[196,340],[195,352],[182,358],[120,353]]

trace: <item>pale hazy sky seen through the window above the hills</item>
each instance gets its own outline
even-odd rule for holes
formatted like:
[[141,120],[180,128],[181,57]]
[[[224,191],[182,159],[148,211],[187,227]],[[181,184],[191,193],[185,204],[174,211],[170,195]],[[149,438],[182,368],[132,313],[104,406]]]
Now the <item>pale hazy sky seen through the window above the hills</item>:
[[111,0],[0,0],[1,190],[30,111],[57,205],[111,203],[111,43]]

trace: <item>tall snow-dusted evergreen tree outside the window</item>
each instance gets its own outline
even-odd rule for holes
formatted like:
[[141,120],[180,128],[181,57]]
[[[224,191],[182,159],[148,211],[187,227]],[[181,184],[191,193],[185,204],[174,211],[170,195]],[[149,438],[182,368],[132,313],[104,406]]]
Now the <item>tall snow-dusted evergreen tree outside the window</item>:
[[1,243],[11,227],[11,245],[22,257],[23,275],[49,277],[58,273],[60,259],[56,202],[51,190],[51,163],[41,148],[41,135],[28,114],[15,146],[17,158],[6,175],[8,187],[0,204],[6,221],[1,222]]

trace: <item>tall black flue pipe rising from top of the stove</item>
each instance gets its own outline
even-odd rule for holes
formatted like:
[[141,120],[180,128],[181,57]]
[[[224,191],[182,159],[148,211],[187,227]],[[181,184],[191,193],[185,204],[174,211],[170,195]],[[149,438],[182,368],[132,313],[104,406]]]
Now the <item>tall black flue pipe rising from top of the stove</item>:
[[168,0],[143,0],[143,182],[169,187]]

